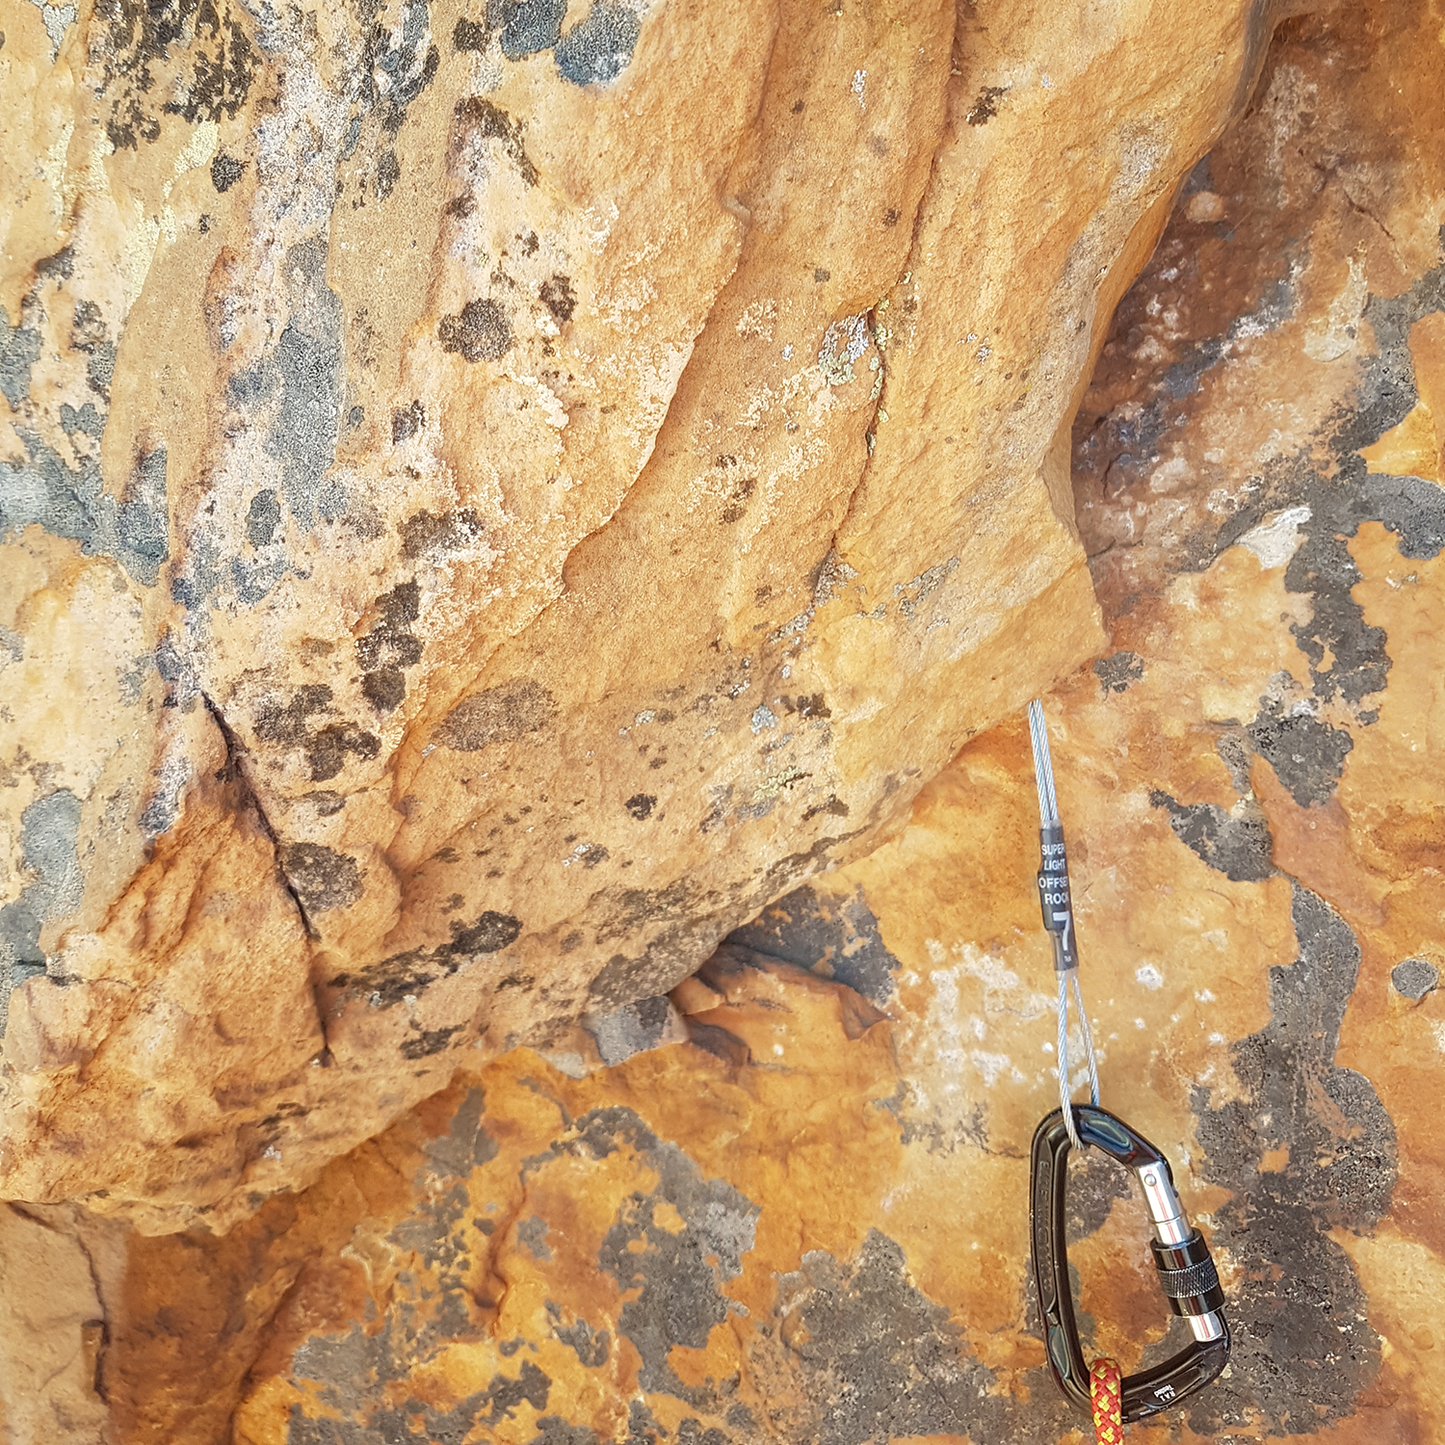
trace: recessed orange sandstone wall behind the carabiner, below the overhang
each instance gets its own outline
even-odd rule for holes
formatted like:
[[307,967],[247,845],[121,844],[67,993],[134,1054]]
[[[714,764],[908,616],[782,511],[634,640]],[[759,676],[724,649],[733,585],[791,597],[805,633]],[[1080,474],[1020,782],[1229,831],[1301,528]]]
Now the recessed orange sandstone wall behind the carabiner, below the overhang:
[[[1110,644],[1046,709],[1104,1103],[1170,1153],[1234,1328],[1130,1439],[1438,1435],[1442,59],[1412,4],[1282,27],[1072,431]],[[48,1292],[0,1289],[12,1433],[1084,1439],[1026,1289],[1035,828],[1013,717],[669,997],[471,1053],[224,1235],[12,1205]],[[221,877],[251,834],[208,838]],[[1172,1351],[1123,1176],[1085,1157],[1071,1199],[1090,1348]]]

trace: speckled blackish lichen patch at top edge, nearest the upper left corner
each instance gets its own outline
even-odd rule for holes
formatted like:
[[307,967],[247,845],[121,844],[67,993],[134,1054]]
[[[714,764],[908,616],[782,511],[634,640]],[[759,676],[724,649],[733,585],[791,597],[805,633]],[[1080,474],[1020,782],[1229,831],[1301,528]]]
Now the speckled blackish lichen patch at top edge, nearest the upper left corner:
[[108,0],[97,10],[90,53],[117,150],[158,140],[163,116],[236,118],[260,68],[241,13],[214,0]]

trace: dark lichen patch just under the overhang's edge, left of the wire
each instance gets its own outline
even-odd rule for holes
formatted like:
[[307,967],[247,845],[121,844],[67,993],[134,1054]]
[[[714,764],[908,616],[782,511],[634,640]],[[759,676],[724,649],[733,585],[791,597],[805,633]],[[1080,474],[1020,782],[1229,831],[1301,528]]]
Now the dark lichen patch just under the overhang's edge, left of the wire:
[[733,929],[724,942],[834,978],[877,1004],[893,997],[899,961],[884,945],[861,889],[834,899],[805,884]]

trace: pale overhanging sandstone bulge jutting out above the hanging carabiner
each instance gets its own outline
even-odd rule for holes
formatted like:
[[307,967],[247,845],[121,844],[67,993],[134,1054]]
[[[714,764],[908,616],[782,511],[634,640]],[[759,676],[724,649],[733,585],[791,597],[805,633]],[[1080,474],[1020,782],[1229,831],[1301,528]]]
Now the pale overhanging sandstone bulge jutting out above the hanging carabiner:
[[1273,19],[13,0],[0,1189],[225,1228],[1094,655],[1068,426]]

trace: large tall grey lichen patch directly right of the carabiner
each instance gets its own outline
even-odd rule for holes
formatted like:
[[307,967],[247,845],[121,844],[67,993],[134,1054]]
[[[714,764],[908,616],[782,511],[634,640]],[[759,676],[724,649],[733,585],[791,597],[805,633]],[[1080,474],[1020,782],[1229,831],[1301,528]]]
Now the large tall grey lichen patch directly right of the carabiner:
[[[1215,1240],[1240,1266],[1228,1302],[1230,1379],[1196,1399],[1201,1435],[1257,1423],[1287,1432],[1354,1415],[1380,1368],[1380,1340],[1334,1230],[1364,1233],[1390,1208],[1394,1124],[1370,1081],[1334,1062],[1360,945],[1324,899],[1295,884],[1299,958],[1270,970],[1270,1023],[1233,1045],[1243,1095],[1220,1108],[1195,1091],[1205,1179],[1231,1191]],[[1264,1155],[1285,1166],[1263,1169]]]

